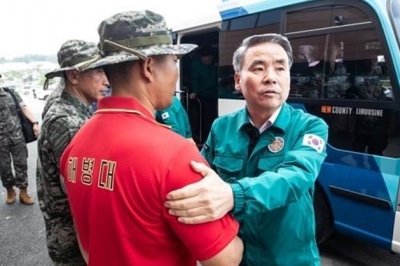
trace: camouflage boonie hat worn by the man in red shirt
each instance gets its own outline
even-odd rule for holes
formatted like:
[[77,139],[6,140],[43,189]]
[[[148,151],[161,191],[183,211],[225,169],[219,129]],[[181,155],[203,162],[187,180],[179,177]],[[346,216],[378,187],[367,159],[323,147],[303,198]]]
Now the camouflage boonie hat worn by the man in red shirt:
[[185,55],[195,44],[172,44],[165,19],[152,11],[128,11],[103,20],[99,27],[103,59],[94,67],[142,59],[152,55]]

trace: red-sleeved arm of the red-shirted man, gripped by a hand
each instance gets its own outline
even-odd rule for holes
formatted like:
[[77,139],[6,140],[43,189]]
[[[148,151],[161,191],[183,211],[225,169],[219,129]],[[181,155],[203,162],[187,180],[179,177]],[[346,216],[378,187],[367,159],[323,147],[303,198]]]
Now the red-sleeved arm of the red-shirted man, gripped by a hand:
[[[185,153],[185,158],[182,158]],[[189,160],[202,161],[197,148],[185,143],[171,158],[171,166],[165,176],[165,195],[202,179],[199,173],[192,171]],[[243,243],[237,237],[239,224],[230,216],[204,224],[187,225],[165,208],[165,218],[175,234],[182,240],[194,257],[204,266],[239,265],[242,259]]]

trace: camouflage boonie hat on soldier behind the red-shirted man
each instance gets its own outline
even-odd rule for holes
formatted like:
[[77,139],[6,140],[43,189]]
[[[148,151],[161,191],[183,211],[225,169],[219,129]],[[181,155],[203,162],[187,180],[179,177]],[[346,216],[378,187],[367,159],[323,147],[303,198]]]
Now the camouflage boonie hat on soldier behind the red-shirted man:
[[97,45],[82,40],[66,41],[57,53],[59,69],[47,73],[47,79],[63,77],[63,72],[70,69],[92,69],[92,63],[101,58]]

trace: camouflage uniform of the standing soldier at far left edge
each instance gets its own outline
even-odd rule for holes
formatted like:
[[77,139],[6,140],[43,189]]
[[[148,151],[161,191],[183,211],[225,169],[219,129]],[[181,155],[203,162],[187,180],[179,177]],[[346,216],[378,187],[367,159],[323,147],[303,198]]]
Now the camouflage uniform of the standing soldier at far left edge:
[[[25,106],[19,94],[13,91],[19,105]],[[11,156],[15,178],[11,171]],[[22,134],[17,107],[10,93],[0,88],[0,176],[5,188],[28,186],[28,149]]]

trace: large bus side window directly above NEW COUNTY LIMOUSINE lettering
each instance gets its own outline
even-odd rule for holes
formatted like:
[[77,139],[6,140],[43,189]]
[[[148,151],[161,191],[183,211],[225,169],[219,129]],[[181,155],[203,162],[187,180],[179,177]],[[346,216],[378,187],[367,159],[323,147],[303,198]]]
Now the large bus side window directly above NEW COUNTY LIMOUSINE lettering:
[[394,101],[374,30],[293,39],[290,97]]

